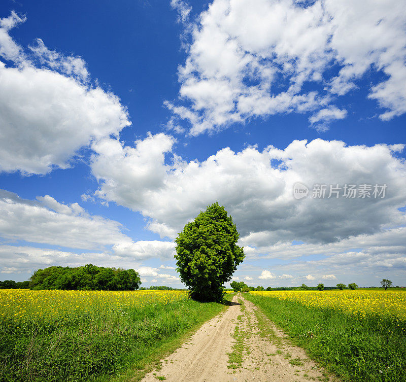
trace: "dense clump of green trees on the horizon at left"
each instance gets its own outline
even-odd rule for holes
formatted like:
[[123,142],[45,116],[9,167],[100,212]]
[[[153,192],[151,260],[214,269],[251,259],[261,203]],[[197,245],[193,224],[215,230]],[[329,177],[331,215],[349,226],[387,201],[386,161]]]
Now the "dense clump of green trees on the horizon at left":
[[76,268],[52,266],[38,269],[31,276],[29,287],[32,290],[131,291],[138,289],[140,284],[140,275],[134,269],[87,264]]

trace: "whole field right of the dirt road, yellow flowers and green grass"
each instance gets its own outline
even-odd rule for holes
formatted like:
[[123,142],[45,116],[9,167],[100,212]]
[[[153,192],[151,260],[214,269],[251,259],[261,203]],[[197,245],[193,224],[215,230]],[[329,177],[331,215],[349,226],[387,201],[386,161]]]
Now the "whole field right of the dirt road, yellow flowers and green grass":
[[272,291],[244,297],[343,380],[406,381],[406,291]]

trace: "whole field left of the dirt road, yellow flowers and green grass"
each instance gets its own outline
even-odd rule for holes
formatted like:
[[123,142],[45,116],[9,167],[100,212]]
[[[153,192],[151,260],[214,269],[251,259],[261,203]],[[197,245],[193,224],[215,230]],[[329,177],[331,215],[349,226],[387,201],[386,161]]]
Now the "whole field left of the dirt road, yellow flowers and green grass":
[[129,365],[145,369],[160,346],[222,309],[184,291],[0,290],[0,380],[104,380]]

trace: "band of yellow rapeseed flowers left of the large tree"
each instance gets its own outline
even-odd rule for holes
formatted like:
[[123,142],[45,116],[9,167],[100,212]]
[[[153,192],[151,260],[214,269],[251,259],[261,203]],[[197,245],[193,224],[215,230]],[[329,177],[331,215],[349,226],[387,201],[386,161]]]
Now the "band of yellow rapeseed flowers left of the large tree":
[[79,316],[125,314],[129,308],[188,298],[186,291],[0,290],[0,317],[10,321],[70,322]]

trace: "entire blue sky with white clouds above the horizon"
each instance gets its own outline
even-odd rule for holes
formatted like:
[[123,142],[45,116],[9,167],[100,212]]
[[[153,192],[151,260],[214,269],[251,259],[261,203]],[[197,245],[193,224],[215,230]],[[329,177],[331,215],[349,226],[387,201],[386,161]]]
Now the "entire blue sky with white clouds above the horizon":
[[0,280],[183,287],[217,201],[233,280],[406,285],[405,31],[398,0],[2,1]]

